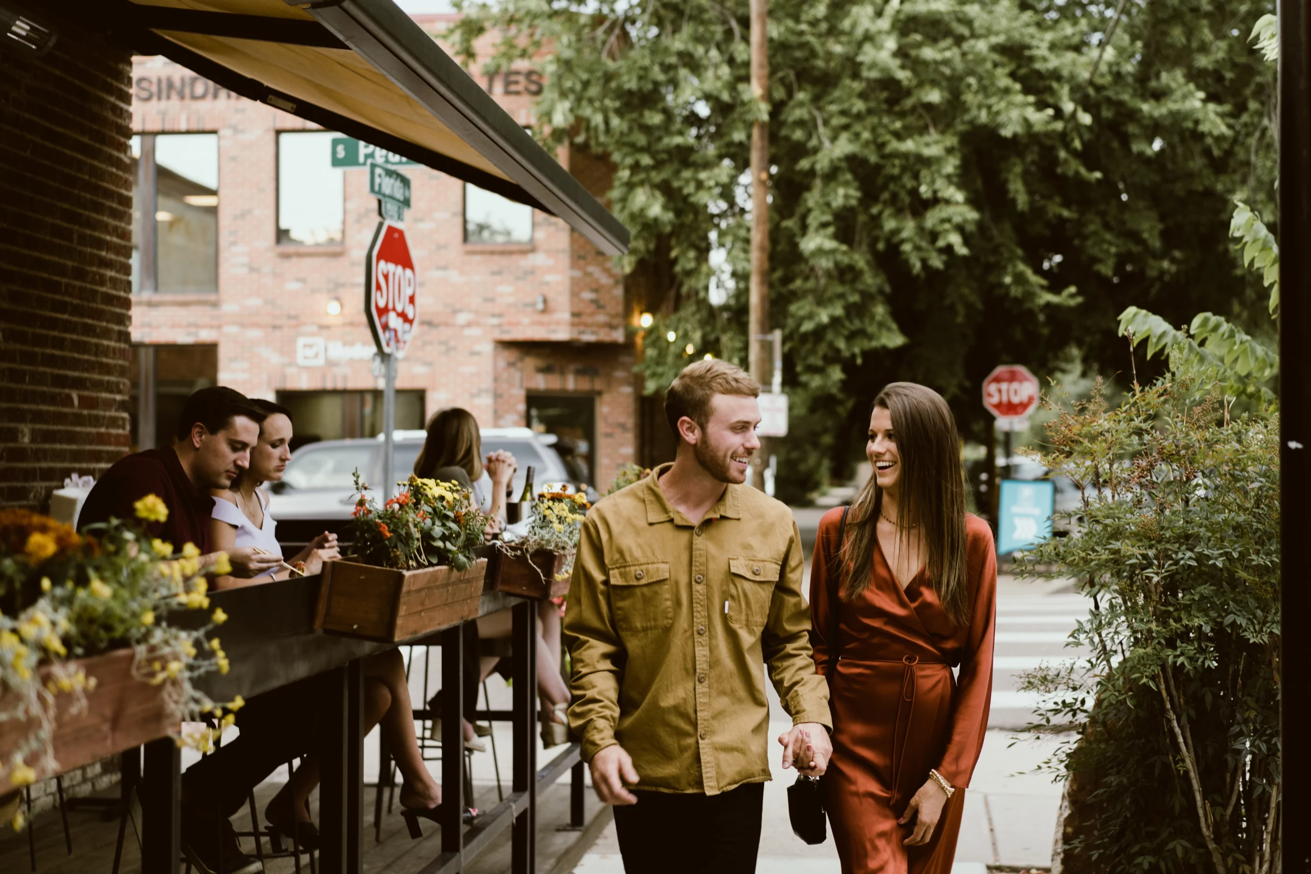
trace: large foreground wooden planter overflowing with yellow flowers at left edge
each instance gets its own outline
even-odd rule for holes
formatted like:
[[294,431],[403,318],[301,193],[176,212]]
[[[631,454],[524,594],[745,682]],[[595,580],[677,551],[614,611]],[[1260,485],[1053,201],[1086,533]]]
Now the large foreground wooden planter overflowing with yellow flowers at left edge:
[[[168,508],[147,495],[136,514],[161,520]],[[208,608],[205,574],[231,571],[223,553],[208,561],[193,544],[174,553],[119,520],[79,535],[0,510],[0,797],[169,734],[212,750],[214,731],[184,723],[214,715],[231,725],[243,704],[215,704],[193,684],[227,674],[211,636],[227,616],[216,609],[191,629],[166,621]],[[14,828],[21,820],[13,814]]]

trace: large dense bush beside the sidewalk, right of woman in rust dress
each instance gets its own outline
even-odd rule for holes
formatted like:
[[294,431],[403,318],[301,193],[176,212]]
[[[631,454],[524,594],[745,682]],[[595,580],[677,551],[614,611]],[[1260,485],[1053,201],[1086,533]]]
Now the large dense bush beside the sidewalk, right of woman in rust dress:
[[1078,670],[1040,671],[1044,722],[1079,722],[1058,767],[1093,786],[1070,849],[1096,870],[1264,871],[1280,794],[1278,419],[1230,419],[1186,377],[1058,404],[1042,464],[1074,533],[1023,560],[1095,609]]

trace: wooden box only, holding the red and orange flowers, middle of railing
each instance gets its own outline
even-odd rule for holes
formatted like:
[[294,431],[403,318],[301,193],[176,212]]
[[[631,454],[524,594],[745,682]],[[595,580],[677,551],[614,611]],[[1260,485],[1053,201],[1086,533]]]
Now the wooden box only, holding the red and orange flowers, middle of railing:
[[479,558],[463,571],[448,565],[392,570],[326,562],[315,628],[393,643],[475,618],[486,562]]

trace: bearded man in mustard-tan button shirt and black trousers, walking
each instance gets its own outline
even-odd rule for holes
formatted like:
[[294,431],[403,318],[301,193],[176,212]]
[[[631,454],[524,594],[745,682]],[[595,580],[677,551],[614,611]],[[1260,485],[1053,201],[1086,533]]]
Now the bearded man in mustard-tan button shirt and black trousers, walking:
[[687,367],[665,401],[676,460],[582,525],[564,624],[569,722],[616,806],[629,874],[755,870],[770,780],[762,663],[793,721],[784,768],[818,776],[831,755],[796,522],[742,485],[759,393],[728,362]]

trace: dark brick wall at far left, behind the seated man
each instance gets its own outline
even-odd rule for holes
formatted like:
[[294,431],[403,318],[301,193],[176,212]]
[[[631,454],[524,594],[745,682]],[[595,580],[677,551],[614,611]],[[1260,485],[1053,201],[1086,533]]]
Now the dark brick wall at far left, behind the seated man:
[[46,508],[128,446],[130,56],[0,48],[0,504]]

